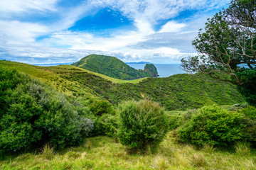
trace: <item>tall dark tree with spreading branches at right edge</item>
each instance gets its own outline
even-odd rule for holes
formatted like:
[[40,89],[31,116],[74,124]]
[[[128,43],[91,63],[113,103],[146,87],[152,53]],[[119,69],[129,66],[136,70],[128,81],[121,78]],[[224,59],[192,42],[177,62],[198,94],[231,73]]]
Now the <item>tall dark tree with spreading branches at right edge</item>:
[[255,105],[255,35],[256,1],[232,0],[227,9],[208,19],[205,32],[201,29],[192,42],[198,56],[183,58],[182,67],[188,73],[201,72],[238,85],[245,100]]

